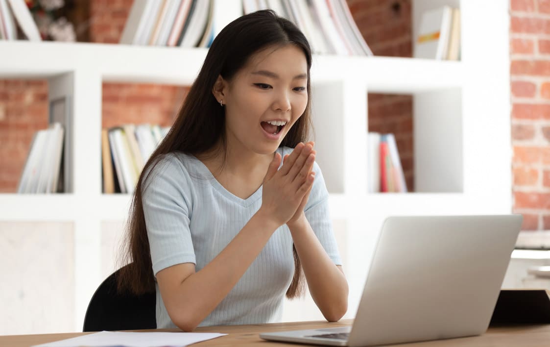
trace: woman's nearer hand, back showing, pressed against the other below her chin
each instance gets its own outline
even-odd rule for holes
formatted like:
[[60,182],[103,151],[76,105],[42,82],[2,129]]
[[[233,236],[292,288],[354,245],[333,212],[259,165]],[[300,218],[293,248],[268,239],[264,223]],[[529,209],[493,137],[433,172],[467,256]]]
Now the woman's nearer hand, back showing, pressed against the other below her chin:
[[279,226],[291,220],[300,208],[300,213],[303,213],[307,195],[315,178],[311,172],[315,161],[313,144],[296,145],[292,153],[285,158],[281,169],[277,170],[281,159],[281,155],[276,153],[267,169],[263,179],[262,206],[259,211]]

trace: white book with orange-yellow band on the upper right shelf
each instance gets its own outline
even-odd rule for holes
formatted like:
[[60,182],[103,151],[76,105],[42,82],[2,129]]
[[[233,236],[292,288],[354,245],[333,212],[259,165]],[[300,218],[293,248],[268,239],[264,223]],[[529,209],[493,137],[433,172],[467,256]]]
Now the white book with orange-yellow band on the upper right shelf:
[[416,58],[442,60],[447,57],[453,9],[443,6],[422,13],[415,39]]

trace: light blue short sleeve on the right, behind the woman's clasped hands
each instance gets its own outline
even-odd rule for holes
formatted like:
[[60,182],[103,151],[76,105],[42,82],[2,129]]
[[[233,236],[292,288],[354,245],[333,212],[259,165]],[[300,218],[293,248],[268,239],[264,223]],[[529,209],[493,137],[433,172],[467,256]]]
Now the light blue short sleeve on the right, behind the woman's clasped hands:
[[316,162],[313,164],[313,171],[315,172],[315,181],[313,181],[313,187],[307,199],[304,213],[328,257],[332,259],[334,264],[342,265],[342,258],[340,258],[332,229],[331,214],[328,210],[327,187],[324,184],[321,168]]

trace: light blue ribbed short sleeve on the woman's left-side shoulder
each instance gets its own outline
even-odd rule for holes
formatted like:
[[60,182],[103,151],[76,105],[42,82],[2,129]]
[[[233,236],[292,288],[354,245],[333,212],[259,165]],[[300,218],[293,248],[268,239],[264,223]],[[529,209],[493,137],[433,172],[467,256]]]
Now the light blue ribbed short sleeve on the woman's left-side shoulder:
[[146,177],[142,201],[153,273],[195,263],[190,212],[193,182],[175,155],[165,156]]

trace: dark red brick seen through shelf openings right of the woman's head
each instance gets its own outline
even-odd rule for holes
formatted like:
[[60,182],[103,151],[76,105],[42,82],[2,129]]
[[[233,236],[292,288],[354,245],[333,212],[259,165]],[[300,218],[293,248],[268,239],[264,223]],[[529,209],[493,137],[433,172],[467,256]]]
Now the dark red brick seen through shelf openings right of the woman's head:
[[[375,56],[412,57],[410,0],[346,0]],[[393,133],[407,188],[414,191],[412,96],[368,94],[368,131]]]

